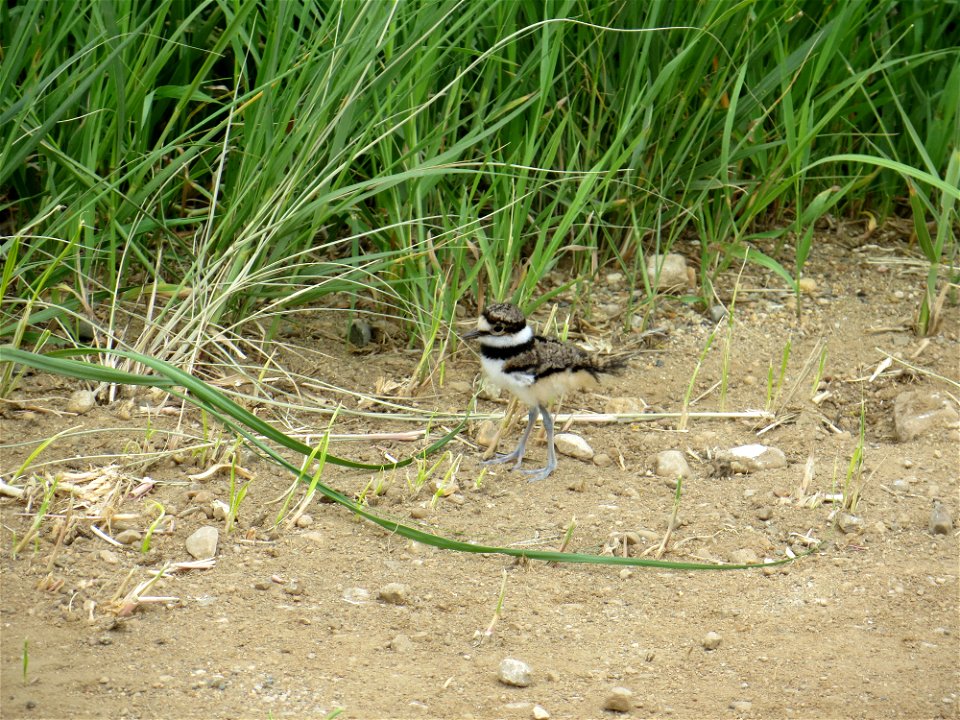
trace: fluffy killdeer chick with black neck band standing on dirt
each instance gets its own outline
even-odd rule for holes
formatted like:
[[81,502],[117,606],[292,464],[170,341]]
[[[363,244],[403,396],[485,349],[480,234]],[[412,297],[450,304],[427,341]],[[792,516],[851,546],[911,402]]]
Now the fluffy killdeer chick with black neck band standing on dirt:
[[530,476],[531,482],[544,479],[557,467],[553,418],[547,404],[571,390],[596,387],[600,373],[619,370],[623,363],[602,362],[575,345],[534,335],[520,308],[511,303],[489,306],[477,320],[477,329],[464,337],[480,340],[480,362],[490,381],[509,390],[530,408],[527,427],[517,448],[486,462],[516,460],[514,467],[519,468],[530,430],[540,415],[547,431],[547,464],[538,470],[523,472]]

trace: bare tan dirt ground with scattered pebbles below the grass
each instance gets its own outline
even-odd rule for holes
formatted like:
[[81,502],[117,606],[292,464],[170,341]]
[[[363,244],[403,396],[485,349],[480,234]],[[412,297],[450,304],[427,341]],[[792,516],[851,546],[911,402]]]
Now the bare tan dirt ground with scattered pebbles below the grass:
[[[181,416],[174,399],[140,390],[114,402],[103,393],[90,412],[67,415],[67,398],[80,384],[28,375],[0,420],[4,480],[12,481],[37,441],[68,428],[78,429],[47,447],[32,470],[81,475],[62,476],[78,494],[72,502],[63,494],[54,499],[39,540],[16,558],[11,549],[27,533],[42,492],[0,501],[2,716],[325,717],[342,709],[341,717],[351,718],[612,717],[604,704],[616,686],[633,693],[627,714],[635,717],[960,716],[958,535],[930,528],[934,499],[954,522],[960,511],[960,436],[949,413],[914,440],[899,441],[894,427],[894,401],[904,391],[954,393],[956,408],[955,386],[930,373],[954,382],[960,376],[958,309],[947,303],[929,342],[915,337],[909,326],[922,268],[906,245],[857,244],[838,236],[818,246],[808,272],[815,287],[807,287],[799,323],[779,281],[756,269],[741,278],[732,335],[722,329],[715,338],[692,394],[703,397],[690,409],[719,408],[714,386],[725,347],[726,409],[763,408],[768,367],[776,374],[789,340],[780,397],[783,404],[795,388],[780,413],[787,422],[759,438],[769,423],[691,417],[679,432],[676,419],[578,422],[571,431],[606,454],[609,465],[561,456],[558,470],[538,483],[497,466],[477,487],[480,451],[471,427],[448,446],[462,454],[455,492],[434,501],[429,486],[413,489],[414,471],[398,470],[380,478],[379,496],[368,493],[377,512],[461,539],[555,549],[575,518],[568,549],[623,552],[617,541],[629,537],[631,554],[650,557],[674,507],[674,489],[650,470],[651,458],[677,449],[693,475],[683,484],[664,559],[763,562],[804,550],[806,538],[821,542],[820,552],[766,570],[624,570],[461,555],[413,544],[320,503],[309,507],[303,527],[274,530],[274,501],[292,478],[250,456],[243,464],[253,481],[228,533],[218,519],[222,508],[214,507],[229,503],[228,478],[189,477],[212,460],[186,452],[145,467],[137,454],[148,445],[162,448],[172,437],[165,431],[178,427],[202,437],[196,410]],[[728,299],[736,277],[726,280],[720,292]],[[589,324],[575,316],[571,337],[583,331],[614,349],[638,347],[610,319],[627,297],[616,277],[601,273]],[[561,318],[566,311],[561,306]],[[664,334],[648,338],[624,374],[599,392],[566,398],[562,411],[622,409],[631,400],[678,411],[714,324],[670,299],[651,324]],[[389,343],[370,354],[349,352],[336,339],[342,316],[319,313],[295,325],[285,341],[302,349],[288,351],[285,362],[356,392],[375,392],[381,378],[408,377],[418,358]],[[826,362],[815,389],[821,342]],[[886,357],[881,351],[920,372],[893,363],[873,377]],[[477,371],[475,355],[460,349],[442,387],[398,402],[461,412]],[[305,401],[358,407],[342,394],[304,393]],[[161,402],[167,410],[159,410]],[[861,404],[859,502],[840,529],[837,496],[857,446]],[[248,407],[276,418],[276,410],[253,400]],[[480,400],[477,408],[496,413],[504,405]],[[391,422],[382,406],[366,409],[379,415],[343,414],[335,431],[421,427]],[[299,422],[314,443],[327,422],[297,411],[285,420]],[[521,415],[504,448],[524,421]],[[739,474],[711,460],[716,449],[755,442],[780,448],[787,466]],[[405,457],[423,444],[344,440],[331,450],[385,462],[387,454]],[[543,458],[542,441],[532,442],[529,466]],[[811,458],[813,476],[804,487]],[[50,460],[59,462],[41,465]],[[117,468],[104,469],[111,464]],[[449,466],[441,463],[435,477]],[[147,476],[155,484],[144,486]],[[372,478],[332,466],[323,475],[351,494]],[[152,501],[167,518],[143,553],[140,538],[157,516]],[[102,517],[106,507],[119,514],[112,522]],[[171,574],[142,593],[170,599],[123,615],[123,598],[139,583],[164,563],[192,559],[185,540],[205,525],[219,530],[215,565]],[[134,541],[117,547],[91,526],[112,538],[134,531],[125,536]],[[390,583],[403,586],[399,596],[388,589],[380,597]],[[502,587],[499,621],[478,642]],[[715,647],[708,633],[719,636]],[[508,657],[530,666],[529,686],[498,680]]]

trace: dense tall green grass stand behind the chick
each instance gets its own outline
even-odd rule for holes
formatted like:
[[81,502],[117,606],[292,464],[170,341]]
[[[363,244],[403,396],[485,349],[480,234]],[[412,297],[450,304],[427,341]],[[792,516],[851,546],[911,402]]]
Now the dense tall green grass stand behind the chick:
[[639,284],[679,238],[705,299],[743,258],[789,285],[863,210],[937,223],[932,298],[958,27],[924,0],[4,3],[0,339],[190,369],[347,293],[442,350],[464,297]]

